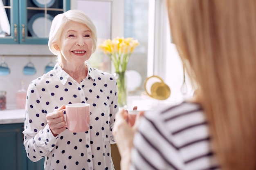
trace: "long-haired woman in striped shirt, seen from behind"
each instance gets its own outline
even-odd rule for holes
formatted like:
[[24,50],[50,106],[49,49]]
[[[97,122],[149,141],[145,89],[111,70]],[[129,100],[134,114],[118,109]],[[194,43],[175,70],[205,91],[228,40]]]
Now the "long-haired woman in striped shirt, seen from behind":
[[117,113],[122,170],[256,170],[256,1],[167,0],[167,7],[198,91],[146,112],[137,130]]

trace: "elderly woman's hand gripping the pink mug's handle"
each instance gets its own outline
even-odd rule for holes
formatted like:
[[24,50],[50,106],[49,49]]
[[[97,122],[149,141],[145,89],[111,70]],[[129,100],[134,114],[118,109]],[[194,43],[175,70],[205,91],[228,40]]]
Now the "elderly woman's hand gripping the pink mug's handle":
[[49,128],[54,136],[57,136],[58,134],[66,130],[66,122],[62,111],[63,109],[65,109],[65,105],[62,105],[60,108],[54,109],[52,113],[48,113],[46,115],[47,124],[49,125]]

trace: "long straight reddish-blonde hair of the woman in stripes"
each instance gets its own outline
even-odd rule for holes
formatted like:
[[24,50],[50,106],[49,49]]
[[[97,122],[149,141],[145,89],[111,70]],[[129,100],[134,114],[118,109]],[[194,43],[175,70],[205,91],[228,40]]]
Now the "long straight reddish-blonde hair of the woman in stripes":
[[256,1],[167,0],[223,170],[256,169]]

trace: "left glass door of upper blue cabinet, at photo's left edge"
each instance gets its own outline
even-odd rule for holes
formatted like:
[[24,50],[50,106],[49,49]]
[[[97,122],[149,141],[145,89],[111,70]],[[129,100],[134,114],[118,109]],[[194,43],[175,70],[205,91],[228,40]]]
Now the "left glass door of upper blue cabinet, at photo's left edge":
[[18,44],[18,0],[0,0],[0,44]]

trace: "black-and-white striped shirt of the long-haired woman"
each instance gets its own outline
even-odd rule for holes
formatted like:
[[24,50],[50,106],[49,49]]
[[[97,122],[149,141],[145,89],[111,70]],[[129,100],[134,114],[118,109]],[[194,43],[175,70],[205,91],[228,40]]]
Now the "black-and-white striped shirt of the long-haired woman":
[[147,111],[131,153],[131,170],[220,170],[198,104]]

